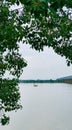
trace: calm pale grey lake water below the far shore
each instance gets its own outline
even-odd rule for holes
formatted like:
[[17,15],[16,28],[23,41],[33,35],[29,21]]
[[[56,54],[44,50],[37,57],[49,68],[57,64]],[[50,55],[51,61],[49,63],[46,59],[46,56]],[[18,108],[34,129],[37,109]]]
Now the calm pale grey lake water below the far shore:
[[0,130],[72,130],[72,85],[20,84],[23,109]]

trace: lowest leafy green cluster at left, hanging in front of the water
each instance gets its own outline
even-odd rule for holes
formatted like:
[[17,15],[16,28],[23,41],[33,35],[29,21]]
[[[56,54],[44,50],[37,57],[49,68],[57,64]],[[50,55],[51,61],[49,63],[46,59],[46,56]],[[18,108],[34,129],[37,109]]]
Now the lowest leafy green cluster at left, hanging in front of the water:
[[2,125],[9,123],[9,117],[6,112],[21,109],[20,105],[20,93],[17,87],[18,81],[16,79],[0,79],[0,112]]

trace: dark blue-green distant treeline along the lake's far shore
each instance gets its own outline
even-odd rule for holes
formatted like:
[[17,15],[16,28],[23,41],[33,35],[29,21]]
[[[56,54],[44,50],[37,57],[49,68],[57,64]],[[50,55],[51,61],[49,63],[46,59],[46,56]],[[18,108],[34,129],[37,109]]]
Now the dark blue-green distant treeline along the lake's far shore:
[[64,80],[19,80],[20,83],[64,83]]

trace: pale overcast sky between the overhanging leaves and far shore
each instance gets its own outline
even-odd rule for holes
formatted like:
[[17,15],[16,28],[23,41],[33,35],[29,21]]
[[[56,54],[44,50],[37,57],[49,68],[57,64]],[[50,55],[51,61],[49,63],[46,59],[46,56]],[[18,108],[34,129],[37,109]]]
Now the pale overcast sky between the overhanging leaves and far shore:
[[30,45],[20,43],[20,54],[28,64],[20,79],[57,79],[72,75],[72,65],[68,67],[66,59],[52,48],[45,47],[43,52],[38,52]]

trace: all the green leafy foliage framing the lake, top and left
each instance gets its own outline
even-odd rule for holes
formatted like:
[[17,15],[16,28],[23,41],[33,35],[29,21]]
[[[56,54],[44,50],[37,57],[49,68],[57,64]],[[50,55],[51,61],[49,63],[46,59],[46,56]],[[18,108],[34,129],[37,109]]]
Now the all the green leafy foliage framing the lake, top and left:
[[[20,4],[18,9],[11,9]],[[52,47],[56,53],[65,56],[70,65],[72,0],[0,0],[0,109],[4,112],[3,125],[9,122],[6,111],[21,108],[17,85],[27,63],[19,54],[20,42],[30,44],[38,51],[44,46]],[[13,79],[4,78],[6,71],[14,76]]]

